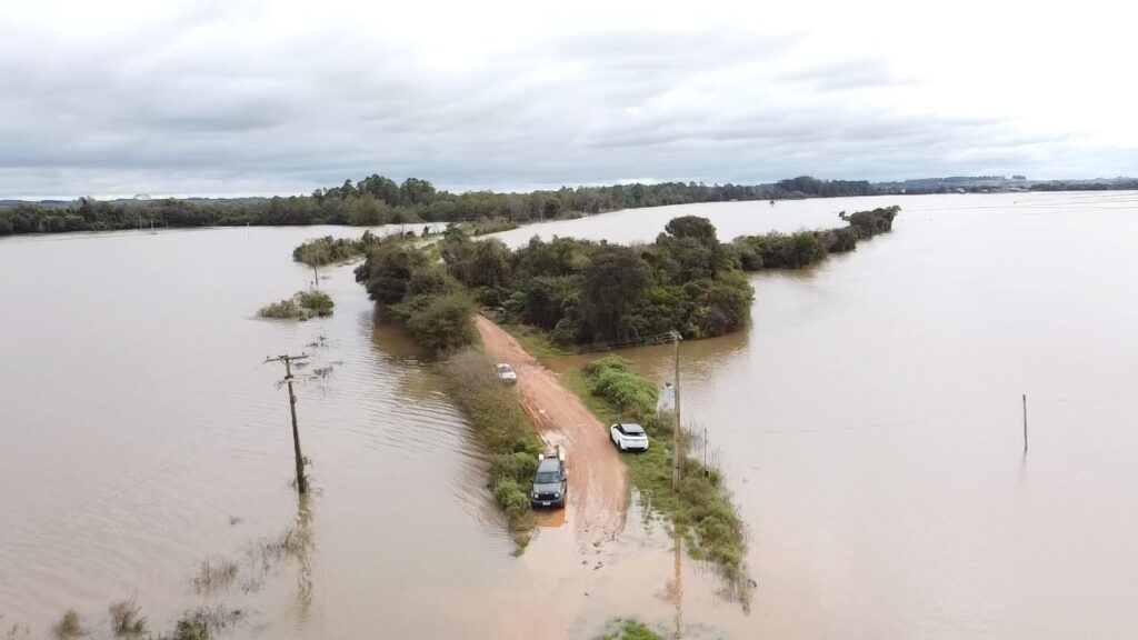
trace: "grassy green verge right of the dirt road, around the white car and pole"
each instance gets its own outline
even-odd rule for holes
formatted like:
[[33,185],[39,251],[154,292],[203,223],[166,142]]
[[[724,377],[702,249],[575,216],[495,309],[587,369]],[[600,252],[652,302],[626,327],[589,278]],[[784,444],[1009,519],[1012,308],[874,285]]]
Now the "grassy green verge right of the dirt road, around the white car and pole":
[[[673,490],[675,420],[671,413],[657,412],[654,385],[613,355],[592,362],[579,374],[563,379],[604,424],[637,417],[652,446],[642,454],[625,456],[624,460],[645,507],[667,516],[676,534],[687,541],[692,557],[715,563],[734,592],[745,601],[749,593],[743,566],[747,528],[731,502],[719,469],[685,457],[679,491]],[[620,381],[613,383],[613,379]],[[681,433],[681,442],[688,449],[691,435]]]

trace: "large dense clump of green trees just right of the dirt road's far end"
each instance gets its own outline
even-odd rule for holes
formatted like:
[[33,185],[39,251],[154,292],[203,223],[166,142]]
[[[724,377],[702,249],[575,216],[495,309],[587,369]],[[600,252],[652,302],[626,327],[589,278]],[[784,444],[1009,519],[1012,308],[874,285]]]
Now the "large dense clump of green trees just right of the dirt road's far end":
[[753,296],[728,247],[706,219],[677,218],[651,245],[534,238],[510,251],[498,240],[447,235],[447,272],[508,325],[547,331],[559,346],[629,343],[679,330],[707,337],[735,330]]

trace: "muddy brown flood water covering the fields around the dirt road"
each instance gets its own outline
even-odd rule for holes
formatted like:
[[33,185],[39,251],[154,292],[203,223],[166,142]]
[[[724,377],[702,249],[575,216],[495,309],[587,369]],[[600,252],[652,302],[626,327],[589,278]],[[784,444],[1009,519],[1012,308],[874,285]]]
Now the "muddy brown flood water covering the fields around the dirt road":
[[[295,245],[358,229],[0,240],[0,631],[43,637],[67,608],[99,627],[134,592],[159,630],[241,608],[233,638],[591,638],[627,615],[684,638],[1138,635],[1138,195],[688,205],[501,237],[651,240],[694,213],[727,239],[887,204],[893,233],[754,276],[751,329],[683,345],[685,413],[750,527],[749,613],[636,509],[600,548],[562,526],[511,556],[462,418],[351,268],[324,270],[333,318],[254,318],[311,278]],[[258,573],[249,548],[298,518],[263,360],[302,351],[312,545]],[[199,592],[208,557],[255,580]]]

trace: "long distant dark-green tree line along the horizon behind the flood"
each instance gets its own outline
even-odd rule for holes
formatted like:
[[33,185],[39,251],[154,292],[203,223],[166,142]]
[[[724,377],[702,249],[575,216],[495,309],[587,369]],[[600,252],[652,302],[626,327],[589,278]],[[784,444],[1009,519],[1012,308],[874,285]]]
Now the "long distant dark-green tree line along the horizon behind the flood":
[[396,183],[382,175],[308,196],[241,199],[178,199],[71,203],[5,203],[0,236],[66,231],[116,231],[137,228],[339,224],[374,227],[414,222],[535,220],[576,218],[620,208],[660,205],[766,200],[874,194],[865,181],[800,177],[775,184],[704,184],[661,182],[609,187],[562,187],[531,192],[468,191],[453,194],[419,178]]

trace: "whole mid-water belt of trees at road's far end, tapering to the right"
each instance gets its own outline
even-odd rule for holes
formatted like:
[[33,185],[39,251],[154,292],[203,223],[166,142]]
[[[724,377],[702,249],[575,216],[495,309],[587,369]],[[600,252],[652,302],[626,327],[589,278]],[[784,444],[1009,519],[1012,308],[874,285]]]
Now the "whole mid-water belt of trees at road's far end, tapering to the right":
[[859,212],[847,227],[721,243],[704,218],[673,219],[655,241],[621,246],[534,238],[510,249],[448,229],[437,245],[399,239],[368,249],[356,280],[421,344],[451,351],[473,339],[478,306],[546,331],[566,346],[628,344],[679,331],[718,336],[747,325],[754,292],[744,271],[799,269],[889,231],[898,207]]

